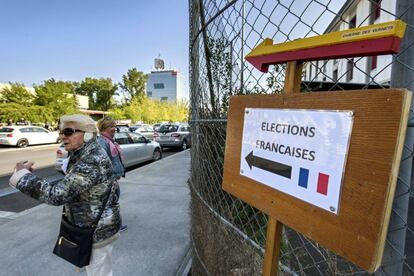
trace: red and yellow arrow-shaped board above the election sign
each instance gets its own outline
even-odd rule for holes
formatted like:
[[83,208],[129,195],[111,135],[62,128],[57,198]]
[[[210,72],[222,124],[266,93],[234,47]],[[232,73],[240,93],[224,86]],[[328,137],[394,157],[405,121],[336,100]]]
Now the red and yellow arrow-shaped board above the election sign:
[[400,50],[406,24],[401,20],[363,26],[324,35],[273,44],[266,38],[246,60],[262,72],[270,64],[395,54]]

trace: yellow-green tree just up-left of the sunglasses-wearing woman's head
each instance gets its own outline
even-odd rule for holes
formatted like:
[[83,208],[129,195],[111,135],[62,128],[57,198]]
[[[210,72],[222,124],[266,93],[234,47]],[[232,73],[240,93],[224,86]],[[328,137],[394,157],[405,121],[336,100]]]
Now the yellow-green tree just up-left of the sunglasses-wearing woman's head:
[[53,78],[40,85],[34,85],[34,104],[50,110],[55,119],[77,110],[74,86],[70,81],[56,81]]

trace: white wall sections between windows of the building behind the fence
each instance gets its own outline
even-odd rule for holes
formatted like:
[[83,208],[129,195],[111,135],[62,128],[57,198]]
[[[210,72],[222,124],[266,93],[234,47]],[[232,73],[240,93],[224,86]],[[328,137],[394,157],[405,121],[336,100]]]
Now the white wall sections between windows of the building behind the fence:
[[[349,3],[347,1],[344,5]],[[377,18],[372,24],[383,23],[387,21],[395,20],[392,14],[395,14],[396,0],[382,0],[381,12],[379,18]],[[347,9],[342,18],[347,22],[341,22],[335,27],[328,29],[325,33],[342,31],[349,29],[348,22],[356,15],[356,26],[362,27],[370,25],[370,1],[360,0],[355,2],[349,9]],[[333,25],[333,24],[331,24]],[[339,82],[351,82],[351,83],[381,83],[386,84],[390,81],[391,66],[388,66],[392,61],[391,55],[382,55],[377,57],[377,68],[371,70],[370,57],[354,58],[353,78],[347,80],[347,63],[349,59],[328,60],[323,68],[324,61],[308,62],[305,64],[305,77],[306,81],[328,81],[335,82],[334,70],[338,72]]]

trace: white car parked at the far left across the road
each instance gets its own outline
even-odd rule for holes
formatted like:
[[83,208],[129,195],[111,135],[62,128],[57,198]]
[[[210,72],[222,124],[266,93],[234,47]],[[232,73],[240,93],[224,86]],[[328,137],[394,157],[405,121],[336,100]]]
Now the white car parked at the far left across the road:
[[0,145],[25,148],[29,145],[60,143],[57,131],[38,126],[4,126],[0,128]]

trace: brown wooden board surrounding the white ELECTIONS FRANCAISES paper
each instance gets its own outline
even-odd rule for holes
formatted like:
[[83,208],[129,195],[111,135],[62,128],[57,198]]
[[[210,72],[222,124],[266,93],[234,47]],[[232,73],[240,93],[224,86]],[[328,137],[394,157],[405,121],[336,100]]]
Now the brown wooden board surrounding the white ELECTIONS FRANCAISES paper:
[[[373,272],[381,264],[410,103],[403,89],[234,96],[223,189]],[[338,215],[240,175],[246,107],[354,111]]]

